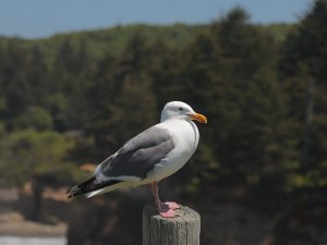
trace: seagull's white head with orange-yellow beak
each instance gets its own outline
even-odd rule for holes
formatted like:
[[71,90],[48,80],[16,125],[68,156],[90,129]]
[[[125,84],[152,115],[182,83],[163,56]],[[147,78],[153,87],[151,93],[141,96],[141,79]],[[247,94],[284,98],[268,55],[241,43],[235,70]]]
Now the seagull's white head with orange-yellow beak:
[[196,120],[201,123],[207,123],[206,117],[195,112],[187,103],[181,101],[171,101],[166,103],[161,111],[161,122],[168,119]]

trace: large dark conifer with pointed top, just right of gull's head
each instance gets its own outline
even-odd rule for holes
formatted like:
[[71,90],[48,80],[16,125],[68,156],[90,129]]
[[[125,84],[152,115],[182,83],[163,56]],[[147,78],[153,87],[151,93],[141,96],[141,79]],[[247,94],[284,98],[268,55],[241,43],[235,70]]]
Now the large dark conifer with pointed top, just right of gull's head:
[[[229,180],[258,185],[281,172],[291,149],[283,125],[284,95],[274,70],[276,50],[274,40],[250,24],[241,9],[185,49],[182,94],[209,119],[203,152],[192,164],[203,175],[202,184]],[[205,167],[198,168],[197,161]]]

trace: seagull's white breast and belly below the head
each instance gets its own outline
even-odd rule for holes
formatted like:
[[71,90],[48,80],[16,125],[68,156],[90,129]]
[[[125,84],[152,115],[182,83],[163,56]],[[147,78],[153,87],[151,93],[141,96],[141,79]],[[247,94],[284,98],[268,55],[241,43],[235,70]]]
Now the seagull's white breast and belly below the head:
[[157,126],[170,132],[174,148],[147,175],[149,182],[160,181],[180,170],[194,154],[198,144],[198,130],[192,121],[167,120]]

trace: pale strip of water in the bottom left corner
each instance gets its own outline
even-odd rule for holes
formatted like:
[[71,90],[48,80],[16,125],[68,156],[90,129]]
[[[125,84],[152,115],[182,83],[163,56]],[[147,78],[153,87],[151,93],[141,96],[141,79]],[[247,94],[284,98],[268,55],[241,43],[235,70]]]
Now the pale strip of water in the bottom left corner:
[[0,245],[65,245],[65,237],[0,236]]

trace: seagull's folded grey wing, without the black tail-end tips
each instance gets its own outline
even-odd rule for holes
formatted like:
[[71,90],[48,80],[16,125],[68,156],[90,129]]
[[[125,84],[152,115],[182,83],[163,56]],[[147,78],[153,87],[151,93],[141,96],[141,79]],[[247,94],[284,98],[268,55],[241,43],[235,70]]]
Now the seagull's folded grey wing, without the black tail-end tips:
[[[145,179],[172,149],[174,144],[167,130],[150,127],[130,139],[117,154],[99,166],[105,177],[126,176]],[[123,177],[124,176],[124,177]]]

